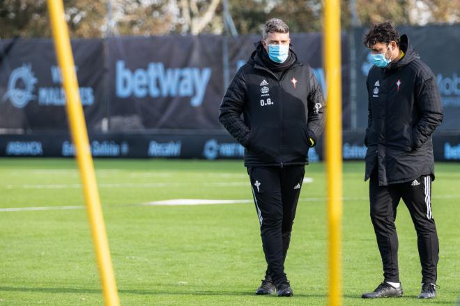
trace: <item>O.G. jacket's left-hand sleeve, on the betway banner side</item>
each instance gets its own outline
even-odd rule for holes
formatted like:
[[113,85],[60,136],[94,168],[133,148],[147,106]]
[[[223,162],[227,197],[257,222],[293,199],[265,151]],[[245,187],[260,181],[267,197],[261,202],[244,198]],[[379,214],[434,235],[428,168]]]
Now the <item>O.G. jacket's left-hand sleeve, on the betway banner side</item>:
[[243,67],[231,80],[229,88],[220,104],[219,121],[236,141],[247,147],[250,141],[250,128],[241,118],[245,106],[246,86]]

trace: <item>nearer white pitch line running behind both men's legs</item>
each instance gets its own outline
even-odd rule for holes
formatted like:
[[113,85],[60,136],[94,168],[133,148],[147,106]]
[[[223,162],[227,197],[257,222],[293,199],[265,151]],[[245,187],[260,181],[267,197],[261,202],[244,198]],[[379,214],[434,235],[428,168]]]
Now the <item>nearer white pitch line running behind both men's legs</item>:
[[[342,197],[342,201],[367,201],[369,197]],[[460,194],[444,194],[431,196],[431,199],[460,199]],[[137,204],[111,204],[110,206],[197,206],[197,205],[222,205],[222,204],[251,204],[253,199],[169,199],[151,201]],[[306,197],[300,198],[302,202],[328,201],[328,197]],[[11,207],[0,208],[0,213],[13,211],[66,211],[83,209],[85,206],[38,206],[38,207]]]

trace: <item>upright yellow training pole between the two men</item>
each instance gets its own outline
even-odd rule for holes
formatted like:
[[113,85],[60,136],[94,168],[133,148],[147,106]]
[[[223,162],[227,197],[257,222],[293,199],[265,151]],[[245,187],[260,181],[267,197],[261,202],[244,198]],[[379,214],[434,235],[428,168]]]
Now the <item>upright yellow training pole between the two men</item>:
[[340,0],[325,0],[324,66],[327,84],[326,161],[328,172],[329,305],[342,305],[342,73]]

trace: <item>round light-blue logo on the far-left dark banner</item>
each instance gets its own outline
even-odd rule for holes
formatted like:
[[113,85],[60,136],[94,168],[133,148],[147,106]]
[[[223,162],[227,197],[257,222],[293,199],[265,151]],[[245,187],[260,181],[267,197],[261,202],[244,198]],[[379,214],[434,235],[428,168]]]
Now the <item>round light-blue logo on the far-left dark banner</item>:
[[32,94],[37,79],[33,75],[31,64],[24,64],[20,68],[16,68],[11,72],[8,80],[8,91],[3,95],[3,101],[10,99],[11,104],[17,108],[22,108],[29,101],[36,98]]

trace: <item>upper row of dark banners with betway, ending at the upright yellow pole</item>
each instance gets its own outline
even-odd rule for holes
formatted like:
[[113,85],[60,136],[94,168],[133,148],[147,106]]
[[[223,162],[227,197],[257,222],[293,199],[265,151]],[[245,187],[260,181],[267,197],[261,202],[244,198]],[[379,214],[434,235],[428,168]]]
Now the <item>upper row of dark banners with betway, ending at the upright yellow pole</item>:
[[[229,40],[231,75],[258,40],[254,35]],[[347,41],[343,36],[344,128],[350,118]],[[321,36],[293,34],[291,42],[324,87]],[[52,40],[6,40],[0,47],[0,128],[66,130]],[[90,131],[222,130],[217,118],[224,93],[222,36],[72,40],[72,50]]]

